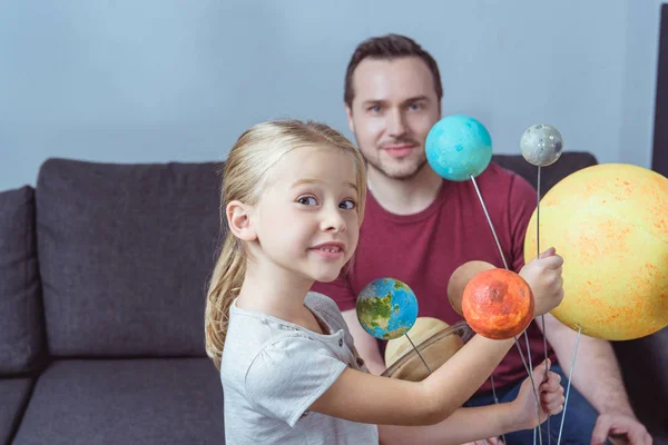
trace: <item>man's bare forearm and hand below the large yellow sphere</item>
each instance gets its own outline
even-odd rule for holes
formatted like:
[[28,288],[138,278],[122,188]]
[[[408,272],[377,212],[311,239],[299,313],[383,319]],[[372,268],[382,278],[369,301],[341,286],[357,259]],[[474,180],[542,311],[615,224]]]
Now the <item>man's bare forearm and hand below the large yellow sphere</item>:
[[[541,323],[538,323],[538,326],[542,329]],[[578,333],[551,314],[546,314],[543,335],[554,349],[559,364],[568,377]],[[612,432],[626,435],[631,444],[651,443],[647,442],[649,437],[647,429],[633,414],[617,356],[609,342],[586,335],[580,336],[572,385],[600,413],[592,443],[602,444]]]

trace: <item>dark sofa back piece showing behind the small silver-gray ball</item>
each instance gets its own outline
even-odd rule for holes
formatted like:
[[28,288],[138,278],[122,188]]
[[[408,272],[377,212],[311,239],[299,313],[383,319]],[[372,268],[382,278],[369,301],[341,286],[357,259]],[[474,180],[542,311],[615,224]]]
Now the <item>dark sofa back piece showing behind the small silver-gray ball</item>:
[[[527,162],[521,155],[494,155],[492,160],[527,179],[536,188],[538,167]],[[596,157],[586,151],[562,152],[557,162],[540,170],[540,195],[544,196],[557,182],[582,168],[596,166]]]

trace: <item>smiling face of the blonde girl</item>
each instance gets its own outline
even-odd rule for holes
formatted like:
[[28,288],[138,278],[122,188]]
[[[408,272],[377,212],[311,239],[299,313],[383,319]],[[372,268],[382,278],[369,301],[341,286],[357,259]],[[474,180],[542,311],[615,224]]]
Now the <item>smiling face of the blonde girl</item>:
[[285,155],[250,217],[259,255],[306,279],[335,279],[357,246],[355,171],[351,155],[331,147]]

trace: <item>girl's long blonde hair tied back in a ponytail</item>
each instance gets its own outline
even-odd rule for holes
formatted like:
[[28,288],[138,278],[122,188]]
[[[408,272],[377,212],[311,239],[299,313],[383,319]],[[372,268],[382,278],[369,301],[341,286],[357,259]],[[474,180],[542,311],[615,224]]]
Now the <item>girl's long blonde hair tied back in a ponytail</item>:
[[[362,156],[346,137],[331,127],[293,119],[258,123],[239,136],[223,169],[222,225],[227,226],[226,206],[229,201],[256,204],[272,167],[291,150],[310,146],[331,147],[350,154],[356,170],[356,209],[361,225],[366,200],[366,174]],[[204,316],[206,353],[218,370],[229,322],[229,307],[238,295],[245,273],[244,246],[227,228],[209,283]]]

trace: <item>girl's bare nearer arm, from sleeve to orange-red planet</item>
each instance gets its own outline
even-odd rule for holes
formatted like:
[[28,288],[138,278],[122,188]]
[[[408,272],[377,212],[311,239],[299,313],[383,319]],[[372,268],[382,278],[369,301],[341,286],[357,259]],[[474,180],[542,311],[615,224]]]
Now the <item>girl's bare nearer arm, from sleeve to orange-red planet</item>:
[[475,335],[422,382],[345,369],[312,411],[377,425],[433,425],[451,416],[489,378],[514,340]]

